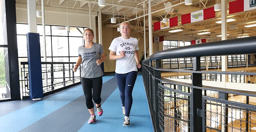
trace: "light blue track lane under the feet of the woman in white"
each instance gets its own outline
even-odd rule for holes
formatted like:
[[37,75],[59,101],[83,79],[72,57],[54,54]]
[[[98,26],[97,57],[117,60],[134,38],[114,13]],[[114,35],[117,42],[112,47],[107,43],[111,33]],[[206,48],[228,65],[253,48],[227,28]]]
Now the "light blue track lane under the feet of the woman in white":
[[153,132],[141,74],[137,76],[132,95],[133,104],[130,113],[130,126],[122,126],[124,116],[122,114],[119,90],[116,88],[102,104],[103,115],[96,115],[95,124],[86,122],[79,132]]

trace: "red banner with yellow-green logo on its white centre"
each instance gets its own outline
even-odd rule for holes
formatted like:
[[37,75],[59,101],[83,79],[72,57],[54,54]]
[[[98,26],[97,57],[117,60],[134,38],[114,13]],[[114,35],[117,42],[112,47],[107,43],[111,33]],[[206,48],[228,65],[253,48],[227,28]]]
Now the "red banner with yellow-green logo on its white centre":
[[202,21],[210,18],[215,18],[214,7],[182,15],[181,24]]

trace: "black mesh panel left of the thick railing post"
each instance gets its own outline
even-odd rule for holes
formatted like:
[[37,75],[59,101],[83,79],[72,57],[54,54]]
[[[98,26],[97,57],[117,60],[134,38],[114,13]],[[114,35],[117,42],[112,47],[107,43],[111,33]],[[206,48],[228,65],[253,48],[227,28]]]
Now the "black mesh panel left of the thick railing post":
[[163,132],[188,132],[190,129],[189,95],[159,84],[159,124]]

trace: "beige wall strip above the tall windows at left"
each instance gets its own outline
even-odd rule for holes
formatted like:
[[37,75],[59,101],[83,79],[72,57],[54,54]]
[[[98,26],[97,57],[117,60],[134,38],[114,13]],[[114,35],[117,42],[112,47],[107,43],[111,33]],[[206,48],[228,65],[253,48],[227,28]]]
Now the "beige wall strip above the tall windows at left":
[[[38,7],[37,7],[38,8]],[[41,7],[40,7],[41,8]],[[66,26],[67,16],[65,8],[45,7],[45,24]],[[96,30],[95,16],[97,12],[91,12],[91,28]],[[16,4],[16,19],[18,23],[28,23],[26,4]],[[42,24],[42,18],[37,18],[37,23]],[[81,10],[68,10],[68,25],[89,27],[89,12]]]

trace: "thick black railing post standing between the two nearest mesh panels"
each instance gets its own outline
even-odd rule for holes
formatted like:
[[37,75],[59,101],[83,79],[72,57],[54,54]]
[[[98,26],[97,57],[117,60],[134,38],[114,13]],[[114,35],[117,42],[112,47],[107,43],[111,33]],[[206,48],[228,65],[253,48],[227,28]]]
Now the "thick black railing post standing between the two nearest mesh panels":
[[[193,71],[200,71],[200,57],[193,57]],[[202,87],[202,74],[192,73],[192,87]],[[192,99],[190,102],[190,127],[192,132],[202,132],[202,117],[197,115],[197,110],[202,110],[202,89],[192,88]]]

